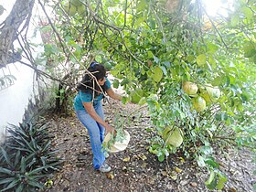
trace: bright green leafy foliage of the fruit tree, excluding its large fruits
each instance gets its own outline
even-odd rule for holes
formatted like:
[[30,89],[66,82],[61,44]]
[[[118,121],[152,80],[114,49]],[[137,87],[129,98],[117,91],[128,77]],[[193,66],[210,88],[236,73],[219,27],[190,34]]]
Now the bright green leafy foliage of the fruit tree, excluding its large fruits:
[[[213,18],[201,1],[176,2],[80,1],[82,13],[72,1],[69,9],[66,1],[53,5],[58,42],[46,45],[45,56],[54,60],[56,76],[63,75],[65,63],[72,83],[93,59],[111,69],[113,86],[128,94],[123,101],[147,103],[157,134],[150,152],[164,161],[183,151],[208,166],[209,188],[221,188],[226,178],[208,150],[212,142],[236,139],[254,147],[256,6],[236,0],[229,16]],[[182,89],[187,80],[199,87],[197,96],[203,97],[200,87],[208,84],[220,95],[206,102],[206,109],[195,108],[198,98]],[[166,127],[184,133],[182,146],[165,144]]]

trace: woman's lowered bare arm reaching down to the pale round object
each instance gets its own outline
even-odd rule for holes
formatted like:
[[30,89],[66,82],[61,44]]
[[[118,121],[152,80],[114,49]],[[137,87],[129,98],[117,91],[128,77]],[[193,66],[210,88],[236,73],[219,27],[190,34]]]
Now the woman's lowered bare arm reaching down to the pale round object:
[[98,123],[101,123],[101,125],[103,127],[105,127],[105,129],[107,130],[107,132],[114,132],[114,128],[112,128],[111,125],[109,125],[108,123],[105,123],[101,117],[97,114],[97,112],[95,112],[94,107],[92,106],[91,102],[83,102],[82,103],[85,110],[91,115],[91,117]]

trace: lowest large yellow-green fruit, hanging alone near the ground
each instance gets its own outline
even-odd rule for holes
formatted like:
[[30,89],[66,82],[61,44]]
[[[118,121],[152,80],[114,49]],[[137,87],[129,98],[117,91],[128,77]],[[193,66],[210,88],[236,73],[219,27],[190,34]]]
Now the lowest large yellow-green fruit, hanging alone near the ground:
[[183,137],[181,135],[181,130],[177,127],[165,128],[163,132],[163,139],[165,140],[166,144],[171,144],[174,147],[178,147],[183,143]]

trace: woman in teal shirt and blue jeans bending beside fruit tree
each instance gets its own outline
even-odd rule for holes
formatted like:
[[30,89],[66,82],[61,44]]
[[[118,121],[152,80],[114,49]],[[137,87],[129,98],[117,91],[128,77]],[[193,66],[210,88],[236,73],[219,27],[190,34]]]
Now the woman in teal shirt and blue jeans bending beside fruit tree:
[[[122,96],[112,91],[110,80],[107,79],[106,69],[97,62],[92,62],[79,85],[74,99],[74,109],[80,122],[90,135],[93,167],[101,172],[110,172],[111,167],[105,163],[105,153],[102,150],[105,129],[114,133],[114,128],[104,121],[101,100],[107,93],[112,99],[122,100]],[[91,76],[93,75],[93,77]],[[104,92],[104,94],[102,93]]]

